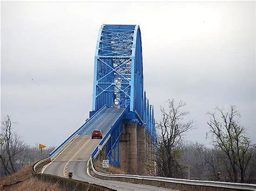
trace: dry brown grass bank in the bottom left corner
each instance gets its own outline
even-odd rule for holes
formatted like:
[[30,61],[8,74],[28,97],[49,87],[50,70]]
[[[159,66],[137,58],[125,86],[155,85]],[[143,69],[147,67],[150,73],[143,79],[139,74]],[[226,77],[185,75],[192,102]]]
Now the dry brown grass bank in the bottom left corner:
[[32,166],[0,178],[0,190],[60,190],[57,183],[40,181],[32,176]]

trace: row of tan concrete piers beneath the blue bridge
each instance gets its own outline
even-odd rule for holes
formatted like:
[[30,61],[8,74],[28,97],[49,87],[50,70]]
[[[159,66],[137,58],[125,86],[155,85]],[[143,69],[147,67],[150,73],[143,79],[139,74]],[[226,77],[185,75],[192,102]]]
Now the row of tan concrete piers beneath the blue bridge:
[[153,175],[156,150],[145,126],[124,123],[120,136],[119,164],[128,174]]

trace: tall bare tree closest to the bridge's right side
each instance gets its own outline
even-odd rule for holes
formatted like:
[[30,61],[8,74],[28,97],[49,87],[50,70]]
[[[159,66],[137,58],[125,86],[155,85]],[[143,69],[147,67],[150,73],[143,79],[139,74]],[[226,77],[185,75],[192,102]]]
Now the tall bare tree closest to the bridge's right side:
[[163,118],[156,123],[160,130],[157,137],[156,164],[158,175],[165,177],[183,176],[184,165],[180,163],[181,152],[178,143],[188,130],[194,129],[193,121],[182,122],[188,114],[182,111],[186,103],[168,100],[168,110],[161,107]]

